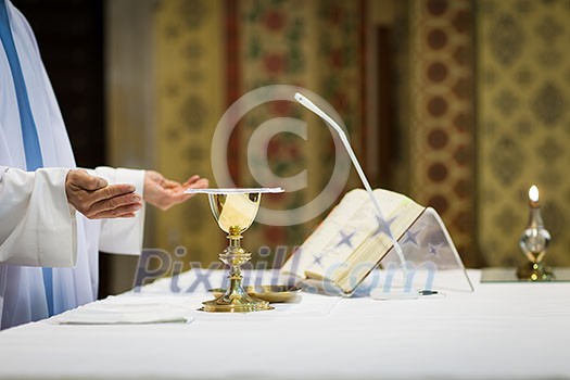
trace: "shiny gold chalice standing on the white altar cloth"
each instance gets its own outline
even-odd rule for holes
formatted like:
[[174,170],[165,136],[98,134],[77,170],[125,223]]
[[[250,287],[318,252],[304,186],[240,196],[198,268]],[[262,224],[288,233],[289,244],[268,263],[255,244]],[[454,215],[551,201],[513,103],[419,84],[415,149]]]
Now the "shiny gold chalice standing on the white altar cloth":
[[228,289],[215,300],[203,302],[201,311],[250,313],[273,309],[269,302],[251,296],[242,287],[241,266],[252,254],[241,246],[240,240],[257,215],[261,198],[258,192],[208,194],[212,214],[219,228],[228,233],[229,245],[219,254],[219,259],[229,266],[230,271]]

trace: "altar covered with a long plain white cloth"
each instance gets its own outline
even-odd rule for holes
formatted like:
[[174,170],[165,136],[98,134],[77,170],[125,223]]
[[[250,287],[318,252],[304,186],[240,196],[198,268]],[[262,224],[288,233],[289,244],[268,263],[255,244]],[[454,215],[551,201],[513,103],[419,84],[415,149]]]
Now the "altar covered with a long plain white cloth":
[[197,309],[216,280],[198,283],[189,271],[94,303],[186,308],[188,321],[52,317],[12,328],[0,332],[0,378],[569,378],[570,283],[468,275],[474,292],[397,301],[303,293],[274,311],[210,314]]

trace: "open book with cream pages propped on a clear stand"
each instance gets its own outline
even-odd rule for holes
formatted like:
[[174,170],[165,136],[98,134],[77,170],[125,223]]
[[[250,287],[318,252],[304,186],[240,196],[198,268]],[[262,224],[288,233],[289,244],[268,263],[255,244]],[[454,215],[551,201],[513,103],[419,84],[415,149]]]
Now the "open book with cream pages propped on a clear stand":
[[281,274],[329,283],[352,294],[392,249],[387,228],[401,241],[426,211],[396,192],[377,189],[373,194],[385,221],[378,217],[365,190],[352,190],[284,263]]

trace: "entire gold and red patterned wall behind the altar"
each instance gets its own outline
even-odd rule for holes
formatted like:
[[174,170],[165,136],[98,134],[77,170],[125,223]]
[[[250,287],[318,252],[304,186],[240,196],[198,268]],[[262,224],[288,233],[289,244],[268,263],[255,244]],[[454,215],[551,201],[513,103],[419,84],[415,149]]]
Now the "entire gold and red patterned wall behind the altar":
[[[192,173],[213,178],[210,144],[219,117],[243,93],[275,84],[322,96],[340,112],[364,156],[362,105],[369,67],[363,28],[369,1],[156,4],[157,169],[179,180]],[[565,228],[570,218],[570,1],[394,0],[393,5],[400,152],[406,164],[398,169],[401,191],[442,214],[468,266],[515,265],[522,259],[517,242],[527,220],[527,191],[536,183],[554,236],[546,259],[570,265]],[[289,102],[255,110],[228,153],[236,181],[254,185],[243,148],[253,128],[276,116],[307,121],[309,137],[319,141],[287,135],[271,140],[276,174],[308,168],[312,175],[304,191],[264,200],[268,207],[290,208],[314,198],[330,175],[331,139],[316,117]],[[352,176],[347,188],[359,186]],[[205,199],[157,218],[160,248],[192,246],[192,259],[210,263],[225,244]],[[254,225],[245,245],[252,251],[261,244],[294,245],[316,223]]]

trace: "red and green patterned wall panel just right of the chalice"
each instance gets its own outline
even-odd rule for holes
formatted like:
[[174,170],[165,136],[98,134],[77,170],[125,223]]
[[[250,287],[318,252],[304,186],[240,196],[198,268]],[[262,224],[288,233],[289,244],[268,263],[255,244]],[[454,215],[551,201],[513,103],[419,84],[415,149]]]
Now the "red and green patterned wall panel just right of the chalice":
[[[307,86],[309,39],[307,37],[312,5],[302,0],[239,1],[240,20],[240,94],[270,85]],[[275,117],[303,118],[303,110],[293,102],[280,101],[261,105],[248,113],[240,130],[240,178],[244,187],[257,187],[251,176],[255,163],[246,157],[252,132]],[[261,157],[266,152],[257,152]],[[278,177],[296,175],[307,167],[305,141],[295,135],[278,134],[268,147],[267,159]],[[252,165],[252,166],[250,166]],[[265,183],[267,186],[267,183]],[[268,195],[263,206],[273,210],[296,208],[305,203],[307,189]],[[275,249],[279,244],[299,244],[303,226],[266,226],[254,224],[246,235],[248,249],[257,252],[261,245]]]

